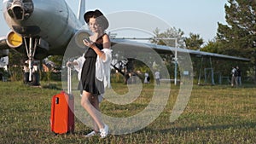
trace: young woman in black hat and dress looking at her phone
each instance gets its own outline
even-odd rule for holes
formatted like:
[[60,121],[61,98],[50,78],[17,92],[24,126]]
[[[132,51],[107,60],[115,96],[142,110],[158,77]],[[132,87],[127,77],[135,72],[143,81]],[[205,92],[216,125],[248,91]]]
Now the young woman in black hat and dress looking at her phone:
[[86,137],[100,134],[102,138],[108,135],[108,125],[102,122],[99,112],[99,95],[104,94],[109,80],[110,62],[112,59],[111,43],[105,30],[108,20],[98,9],[84,14],[92,35],[84,39],[83,43],[89,47],[84,55],[85,61],[81,73],[83,95],[81,105],[90,114],[95,128]]

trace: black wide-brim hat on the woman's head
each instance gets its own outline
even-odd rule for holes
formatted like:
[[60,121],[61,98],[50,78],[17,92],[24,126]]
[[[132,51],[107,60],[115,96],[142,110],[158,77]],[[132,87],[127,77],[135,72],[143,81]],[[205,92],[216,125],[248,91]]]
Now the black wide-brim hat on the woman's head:
[[106,30],[109,26],[108,24],[108,19],[104,16],[104,14],[102,14],[102,12],[98,9],[96,9],[95,11],[88,11],[84,14],[84,20],[85,22],[88,24],[90,18],[96,18],[96,20],[98,20],[98,22],[100,23],[100,25],[102,26],[102,28],[104,30]]

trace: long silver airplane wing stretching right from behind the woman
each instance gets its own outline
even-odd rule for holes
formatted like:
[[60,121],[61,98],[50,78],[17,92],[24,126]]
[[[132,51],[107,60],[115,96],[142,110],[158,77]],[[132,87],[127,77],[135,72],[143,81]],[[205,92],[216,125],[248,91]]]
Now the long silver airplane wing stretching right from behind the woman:
[[[250,59],[247,58],[242,58],[242,57],[237,57],[237,56],[231,56],[231,55],[220,55],[216,53],[209,53],[209,52],[204,52],[204,51],[199,51],[199,50],[191,50],[191,49],[181,49],[181,48],[174,48],[174,47],[169,47],[165,45],[156,45],[153,43],[138,43],[136,41],[131,41],[127,39],[111,39],[113,46],[116,45],[119,49],[126,49],[131,51],[142,51],[142,52],[147,52],[149,49],[154,49],[157,53],[159,54],[170,54],[172,53],[174,55],[175,50],[177,50],[177,54],[181,53],[186,53],[189,55],[195,55],[198,57],[201,56],[208,56],[208,57],[214,57],[218,59],[224,59],[224,60],[241,60],[241,61],[250,61]],[[138,50],[140,49],[140,50]]]

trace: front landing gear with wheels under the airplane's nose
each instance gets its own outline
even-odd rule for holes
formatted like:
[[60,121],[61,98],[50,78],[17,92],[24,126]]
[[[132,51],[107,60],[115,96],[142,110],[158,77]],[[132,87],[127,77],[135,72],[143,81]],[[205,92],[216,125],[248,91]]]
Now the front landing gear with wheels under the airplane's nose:
[[37,37],[23,37],[26,47],[26,55],[28,60],[24,67],[23,82],[25,84],[39,85],[39,72],[38,72],[38,62],[34,60],[34,55],[38,46]]

